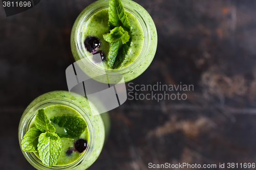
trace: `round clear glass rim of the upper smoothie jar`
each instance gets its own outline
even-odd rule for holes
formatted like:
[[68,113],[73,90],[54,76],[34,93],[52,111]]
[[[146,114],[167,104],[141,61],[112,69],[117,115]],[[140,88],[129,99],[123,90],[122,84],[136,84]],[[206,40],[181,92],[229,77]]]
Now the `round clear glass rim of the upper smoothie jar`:
[[80,16],[79,21],[77,22],[78,27],[75,28],[75,34],[74,34],[74,39],[76,42],[75,47],[76,47],[76,51],[78,53],[80,60],[82,60],[83,64],[87,65],[91,70],[96,71],[101,75],[105,75],[105,74],[108,74],[108,75],[122,74],[122,75],[124,75],[124,74],[127,74],[128,72],[133,71],[143,62],[143,60],[145,59],[146,54],[148,52],[148,49],[150,47],[150,45],[148,45],[149,41],[150,41],[150,31],[148,31],[148,27],[147,27],[145,20],[143,19],[143,17],[140,15],[140,13],[137,10],[130,8],[131,5],[137,5],[137,6],[140,6],[140,5],[133,1],[130,1],[130,0],[122,1],[122,4],[124,6],[125,11],[130,12],[138,19],[138,21],[140,22],[140,25],[142,27],[143,34],[144,34],[144,43],[143,43],[142,51],[140,52],[140,54],[136,58],[136,60],[133,63],[131,63],[130,65],[128,65],[124,68],[121,68],[121,69],[104,69],[104,68],[99,67],[95,63],[93,63],[87,57],[87,55],[84,51],[84,45],[83,45],[84,40],[82,39],[83,34],[81,34],[81,32],[82,32],[81,30],[82,30],[83,26],[86,25],[86,22],[88,21],[88,19],[91,16],[93,16],[98,11],[109,7],[109,0],[107,0],[107,1],[98,0],[98,1],[94,2],[93,4],[89,5],[86,9],[84,9],[81,12],[82,16]]

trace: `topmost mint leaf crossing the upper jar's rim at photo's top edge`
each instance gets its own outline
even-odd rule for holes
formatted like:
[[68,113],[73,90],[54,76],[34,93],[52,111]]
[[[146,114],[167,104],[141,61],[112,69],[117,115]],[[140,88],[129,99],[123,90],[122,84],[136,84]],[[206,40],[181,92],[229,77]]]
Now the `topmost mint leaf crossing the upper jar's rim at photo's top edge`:
[[111,29],[119,27],[121,22],[123,27],[131,31],[131,25],[124,11],[123,5],[120,0],[111,0],[109,4],[109,26]]

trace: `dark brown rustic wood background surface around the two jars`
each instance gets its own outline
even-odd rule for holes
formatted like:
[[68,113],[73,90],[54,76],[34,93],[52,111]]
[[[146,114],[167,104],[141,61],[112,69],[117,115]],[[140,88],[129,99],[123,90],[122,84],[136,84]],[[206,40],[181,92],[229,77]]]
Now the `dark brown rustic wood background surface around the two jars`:
[[[68,89],[71,29],[92,2],[44,0],[10,17],[0,3],[0,169],[34,169],[19,148],[20,116],[37,96]],[[136,2],[159,40],[150,67],[131,82],[182,82],[194,91],[185,101],[127,100],[110,111],[109,140],[89,169],[255,163],[256,1]]]

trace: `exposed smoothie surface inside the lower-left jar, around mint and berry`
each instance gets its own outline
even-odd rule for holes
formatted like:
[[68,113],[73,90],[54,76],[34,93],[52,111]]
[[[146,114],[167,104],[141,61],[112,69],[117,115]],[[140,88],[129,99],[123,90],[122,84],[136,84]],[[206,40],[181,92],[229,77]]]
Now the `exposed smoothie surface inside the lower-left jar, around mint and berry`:
[[[81,117],[83,118],[76,110],[68,107],[68,106],[64,106],[64,105],[53,105],[53,106],[48,106],[46,108],[44,108],[46,115],[49,119],[56,117],[56,116],[64,116],[64,115],[69,115],[69,116],[77,116],[77,117]],[[53,123],[52,123],[53,124]],[[56,132],[58,133],[65,133],[65,129],[58,127],[57,125],[53,124]],[[34,119],[31,122],[30,125],[30,129],[31,128],[35,128],[35,124],[34,124]],[[86,139],[87,142],[89,141],[89,131],[88,131],[88,127],[86,128],[86,131],[84,131],[81,136],[79,138],[82,139]],[[69,149],[74,149],[74,142],[76,139],[71,139],[71,138],[60,138],[61,140],[61,153],[60,153],[60,157],[57,161],[57,164],[55,166],[63,166],[63,165],[68,165],[71,164],[73,162],[75,162],[76,160],[78,160],[82,154],[85,152],[83,151],[82,153],[79,153],[77,151],[72,152],[71,155],[66,155],[67,150]],[[39,158],[38,152],[35,152],[35,155]]]

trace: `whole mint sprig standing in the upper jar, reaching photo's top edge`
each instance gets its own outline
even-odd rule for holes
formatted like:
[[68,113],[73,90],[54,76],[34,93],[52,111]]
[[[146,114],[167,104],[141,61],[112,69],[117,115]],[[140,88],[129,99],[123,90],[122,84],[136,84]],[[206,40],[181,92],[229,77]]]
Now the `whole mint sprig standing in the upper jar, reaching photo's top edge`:
[[[131,25],[120,0],[111,0],[109,4],[109,27],[111,32],[104,34],[105,41],[110,42],[109,55],[106,58],[110,68],[118,68],[125,60],[131,46]],[[126,30],[124,30],[126,29]],[[119,41],[122,41],[120,43]]]

